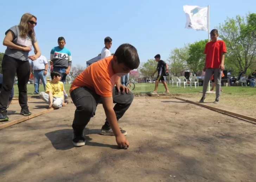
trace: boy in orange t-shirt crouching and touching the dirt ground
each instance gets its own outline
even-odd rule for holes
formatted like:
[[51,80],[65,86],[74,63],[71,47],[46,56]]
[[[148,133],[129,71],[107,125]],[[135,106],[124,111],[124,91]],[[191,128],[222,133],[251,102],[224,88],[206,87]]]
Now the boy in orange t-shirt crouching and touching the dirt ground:
[[[124,137],[127,132],[119,128],[117,121],[132,104],[133,93],[121,85],[120,76],[127,75],[139,65],[136,48],[130,44],[122,44],[116,49],[114,56],[91,64],[73,80],[69,92],[76,106],[72,124],[74,146],[85,145],[83,130],[101,102],[107,119],[100,134],[115,136],[119,147],[129,147],[129,142]],[[116,103],[114,108],[113,103]]]

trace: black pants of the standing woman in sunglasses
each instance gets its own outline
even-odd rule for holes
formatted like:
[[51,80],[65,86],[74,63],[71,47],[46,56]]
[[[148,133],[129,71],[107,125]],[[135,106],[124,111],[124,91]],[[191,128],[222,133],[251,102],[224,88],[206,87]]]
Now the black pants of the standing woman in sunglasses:
[[0,93],[0,110],[6,110],[12,92],[15,73],[18,77],[19,104],[22,109],[27,106],[27,82],[30,76],[29,61],[21,61],[4,55],[2,60],[3,83]]

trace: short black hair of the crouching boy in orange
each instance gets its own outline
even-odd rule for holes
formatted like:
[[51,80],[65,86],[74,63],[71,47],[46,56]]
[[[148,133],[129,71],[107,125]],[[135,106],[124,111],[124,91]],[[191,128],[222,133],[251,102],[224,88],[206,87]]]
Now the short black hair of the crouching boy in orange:
[[139,67],[140,59],[137,49],[131,44],[120,45],[114,54],[118,63],[123,63],[127,68],[133,70]]

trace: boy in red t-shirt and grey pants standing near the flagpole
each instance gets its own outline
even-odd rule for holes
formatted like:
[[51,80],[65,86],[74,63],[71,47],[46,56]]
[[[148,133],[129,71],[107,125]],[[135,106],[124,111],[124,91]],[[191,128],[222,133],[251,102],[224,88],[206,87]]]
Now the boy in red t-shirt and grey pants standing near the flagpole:
[[205,77],[203,84],[203,97],[199,102],[204,103],[207,86],[213,74],[216,83],[216,99],[214,103],[218,104],[220,96],[220,81],[222,71],[224,70],[226,45],[224,41],[217,40],[217,37],[219,36],[217,29],[213,29],[210,35],[212,41],[206,43],[204,50],[204,54],[206,54],[205,66],[203,69],[205,71]]

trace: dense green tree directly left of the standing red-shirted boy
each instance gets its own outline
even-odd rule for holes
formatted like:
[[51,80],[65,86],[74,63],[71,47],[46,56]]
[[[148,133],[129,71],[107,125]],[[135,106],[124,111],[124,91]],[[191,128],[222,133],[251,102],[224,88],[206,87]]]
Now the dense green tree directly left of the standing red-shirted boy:
[[193,71],[193,74],[201,76],[205,64],[205,44],[208,40],[201,40],[189,45],[187,58],[187,67]]

